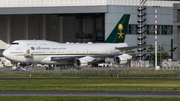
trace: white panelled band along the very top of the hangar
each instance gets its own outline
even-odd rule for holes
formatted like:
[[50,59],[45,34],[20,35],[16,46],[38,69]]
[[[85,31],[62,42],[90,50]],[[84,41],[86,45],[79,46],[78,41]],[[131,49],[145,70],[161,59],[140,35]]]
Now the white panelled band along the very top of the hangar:
[[[146,2],[145,2],[146,1]],[[102,5],[124,5],[139,6],[173,6],[180,0],[0,0],[0,7],[55,7],[55,6],[102,6]]]

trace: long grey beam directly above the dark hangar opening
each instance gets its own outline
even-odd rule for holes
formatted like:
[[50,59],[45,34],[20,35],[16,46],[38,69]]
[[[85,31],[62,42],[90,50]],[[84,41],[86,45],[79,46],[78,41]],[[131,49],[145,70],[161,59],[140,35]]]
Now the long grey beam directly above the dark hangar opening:
[[62,7],[8,7],[0,8],[0,14],[69,14],[106,13],[108,6],[62,6]]

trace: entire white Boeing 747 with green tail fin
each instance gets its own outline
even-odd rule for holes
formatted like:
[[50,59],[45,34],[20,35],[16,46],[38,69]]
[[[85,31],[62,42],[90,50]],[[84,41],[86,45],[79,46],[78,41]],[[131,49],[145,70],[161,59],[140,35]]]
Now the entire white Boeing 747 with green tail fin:
[[[130,15],[124,14],[103,43],[58,43],[46,40],[16,40],[3,52],[14,63],[58,64],[85,67],[105,58],[114,58],[118,65],[132,56],[122,51],[139,48],[124,43]],[[146,46],[141,46],[146,47]]]

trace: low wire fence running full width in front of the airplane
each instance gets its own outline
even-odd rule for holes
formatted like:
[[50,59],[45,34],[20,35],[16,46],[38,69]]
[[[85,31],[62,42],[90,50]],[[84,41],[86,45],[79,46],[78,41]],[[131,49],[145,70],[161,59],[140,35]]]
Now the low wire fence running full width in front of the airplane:
[[30,71],[11,70],[0,68],[0,76],[29,76],[29,77],[180,77],[180,69],[154,68],[93,68],[87,69],[61,69],[32,68]]

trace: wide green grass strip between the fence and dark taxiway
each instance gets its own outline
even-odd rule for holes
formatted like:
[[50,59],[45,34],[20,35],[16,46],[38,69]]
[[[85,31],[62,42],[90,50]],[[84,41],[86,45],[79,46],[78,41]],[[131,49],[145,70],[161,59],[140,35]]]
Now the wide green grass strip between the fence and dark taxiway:
[[180,80],[40,79],[0,81],[0,91],[180,92]]

